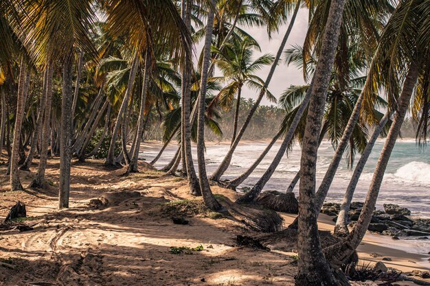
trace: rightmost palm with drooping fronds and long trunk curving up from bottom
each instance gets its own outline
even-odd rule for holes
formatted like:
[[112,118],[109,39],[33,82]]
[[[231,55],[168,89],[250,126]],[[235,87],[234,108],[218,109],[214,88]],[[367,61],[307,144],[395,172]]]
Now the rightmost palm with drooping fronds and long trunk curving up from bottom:
[[[403,82],[403,89],[397,100],[389,99],[389,101],[397,102],[394,107],[396,114],[376,164],[359,220],[348,237],[325,250],[326,257],[332,265],[344,263],[346,257],[352,254],[361,243],[372,219],[389,157],[400,133],[411,97],[414,91],[423,87],[416,88],[417,80],[422,75],[428,77],[430,34],[427,27],[429,27],[429,17],[429,1],[402,1],[398,3],[381,34],[378,51],[373,59],[377,69],[371,69],[369,74],[378,76],[379,82],[383,82],[388,91],[396,90],[399,80]],[[369,77],[369,75],[367,76]]]

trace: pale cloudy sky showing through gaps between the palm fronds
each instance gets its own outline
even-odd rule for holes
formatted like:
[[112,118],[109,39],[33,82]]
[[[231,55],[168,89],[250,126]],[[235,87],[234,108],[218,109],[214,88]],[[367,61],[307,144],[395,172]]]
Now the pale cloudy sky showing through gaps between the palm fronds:
[[[266,27],[241,27],[245,29],[245,31],[253,36],[261,47],[261,52],[255,51],[254,57],[258,58],[259,56],[262,56],[264,53],[271,53],[273,56],[278,52],[280,43],[282,38],[284,37],[284,34],[286,32],[286,29],[288,27],[288,23],[285,23],[280,27],[279,33],[273,33],[271,39],[269,39],[269,36],[267,34]],[[288,49],[288,47],[291,47],[291,45],[303,45],[304,38],[306,36],[306,31],[308,29],[308,10],[301,9],[299,10],[297,14],[297,18],[295,19],[295,23],[293,25],[293,29],[291,30],[291,34],[288,37],[288,40],[285,45],[285,49]],[[200,45],[197,45],[196,51],[201,51],[203,47],[203,43],[200,43]],[[264,67],[264,69],[261,69],[258,71],[257,75],[262,78],[262,80],[266,80],[267,74],[269,73],[271,66]],[[215,76],[219,75],[219,71],[216,72]],[[288,88],[291,84],[304,84],[303,80],[303,73],[299,69],[297,69],[294,65],[290,65],[289,67],[284,64],[284,60],[280,61],[280,64],[278,64],[278,67],[276,67],[275,73],[273,74],[273,78],[271,80],[271,83],[269,84],[269,91],[273,95],[275,95],[276,98],[279,98],[282,92]],[[242,91],[242,97],[245,98],[253,98],[256,99],[258,97],[258,94],[256,91],[249,90],[248,88],[244,88],[244,91]],[[275,103],[270,102],[266,98],[264,98],[261,102],[262,105],[275,105]]]

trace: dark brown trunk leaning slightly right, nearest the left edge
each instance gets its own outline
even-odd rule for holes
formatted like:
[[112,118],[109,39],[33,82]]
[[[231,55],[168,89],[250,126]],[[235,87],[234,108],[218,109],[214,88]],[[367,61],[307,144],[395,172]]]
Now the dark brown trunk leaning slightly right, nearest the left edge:
[[[25,99],[27,93],[25,91],[27,85],[27,75],[30,75],[30,71],[27,71],[27,64],[25,64],[24,58],[21,59],[20,71],[19,71],[19,86],[18,86],[18,99],[16,100],[16,114],[15,114],[15,127],[14,127],[14,141],[12,145],[12,156],[10,158],[10,189],[11,191],[23,190],[23,186],[19,180],[19,142],[21,138],[21,128],[23,125]],[[28,89],[27,89],[28,91]]]

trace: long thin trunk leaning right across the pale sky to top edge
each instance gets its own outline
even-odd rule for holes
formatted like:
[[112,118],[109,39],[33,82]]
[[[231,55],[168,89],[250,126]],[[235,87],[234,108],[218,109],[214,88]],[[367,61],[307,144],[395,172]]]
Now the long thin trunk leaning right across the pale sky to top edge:
[[[296,4],[297,6],[294,10],[293,15],[291,16],[291,21],[290,21],[290,24],[288,25],[288,29],[286,29],[284,38],[282,38],[282,43],[278,49],[278,53],[276,54],[275,60],[273,61],[272,67],[269,71],[269,74],[267,75],[266,81],[264,82],[265,88],[269,86],[273,73],[275,73],[275,69],[278,66],[278,62],[281,58],[282,51],[284,50],[286,40],[288,40],[288,36],[290,36],[291,29],[293,29],[293,24],[297,16],[297,12],[299,12],[300,2],[301,2],[300,0],[297,1],[297,4]],[[251,119],[254,113],[256,112],[258,106],[260,105],[260,102],[263,96],[264,96],[264,91],[261,91],[260,94],[258,95],[256,103],[252,106],[251,110],[249,110],[249,114],[247,115],[247,118],[245,119],[245,122],[243,123],[242,128],[240,128],[238,135],[236,136],[236,139],[234,139],[233,144],[231,144],[229,151],[225,155],[223,162],[221,162],[221,164],[218,166],[218,169],[216,169],[214,174],[212,174],[210,180],[219,181],[221,176],[223,176],[224,172],[228,169],[231,162],[231,158],[233,157],[233,153],[236,150],[236,147],[238,147],[238,144],[240,142],[240,139],[242,139],[243,134],[245,134],[245,130],[247,129],[249,122],[251,122]]]

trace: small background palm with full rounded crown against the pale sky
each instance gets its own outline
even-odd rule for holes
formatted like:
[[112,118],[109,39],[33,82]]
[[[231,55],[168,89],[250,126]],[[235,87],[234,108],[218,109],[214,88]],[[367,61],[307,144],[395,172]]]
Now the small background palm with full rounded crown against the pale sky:
[[266,95],[269,100],[273,102],[276,101],[275,97],[264,87],[263,80],[254,74],[265,65],[271,64],[274,58],[269,54],[264,54],[256,60],[253,60],[253,48],[259,49],[248,37],[241,40],[234,40],[229,45],[226,45],[223,51],[214,48],[214,51],[220,56],[220,59],[214,60],[214,62],[218,65],[220,71],[223,72],[223,77],[218,78],[218,80],[220,80],[220,82],[228,82],[228,84],[220,91],[218,96],[214,98],[213,103],[220,104],[220,106],[224,108],[230,108],[234,95],[237,94],[231,144],[233,144],[234,139],[236,139],[240,96],[244,85],[264,92],[264,95]]

